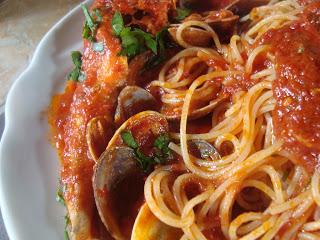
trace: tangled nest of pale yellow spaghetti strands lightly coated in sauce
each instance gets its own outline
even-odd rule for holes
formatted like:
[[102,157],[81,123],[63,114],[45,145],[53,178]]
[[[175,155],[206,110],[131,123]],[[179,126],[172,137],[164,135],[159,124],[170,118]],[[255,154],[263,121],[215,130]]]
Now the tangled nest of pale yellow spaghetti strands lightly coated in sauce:
[[[242,19],[252,21],[249,29],[240,36],[234,35],[228,45],[221,45],[214,30],[205,23],[187,21],[178,27],[176,38],[186,49],[168,61],[160,74],[161,83],[154,84],[162,86],[166,92],[181,87],[179,83],[186,81],[181,77],[181,72],[186,71],[181,69],[181,64],[176,71],[177,77],[171,77],[180,79],[175,84],[164,77],[164,72],[177,61],[187,62],[190,56],[199,61],[202,55],[208,55],[207,59],[222,57],[228,63],[224,71],[217,67],[196,77],[183,93],[180,132],[173,134],[180,146],[171,143],[170,147],[182,156],[191,173],[175,177],[170,168],[159,168],[148,177],[145,184],[145,197],[150,210],[166,224],[181,228],[183,239],[208,239],[210,235],[206,234],[206,230],[214,227],[214,224],[208,224],[207,219],[212,216],[219,216],[220,223],[216,227],[221,229],[226,239],[319,238],[319,219],[313,216],[320,206],[319,172],[315,170],[310,184],[310,175],[281,150],[283,142],[274,136],[271,116],[275,109],[272,93],[272,83],[277,77],[275,56],[270,45],[257,44],[270,29],[281,29],[297,21],[302,11],[301,5],[290,0],[274,1],[256,8]],[[181,33],[190,26],[200,27],[212,34],[216,52],[186,44]],[[254,64],[261,55],[270,64],[254,70]],[[248,74],[257,83],[248,91],[233,95],[231,104],[224,107],[222,119],[213,121],[209,132],[187,134],[190,103],[203,94],[203,90],[197,90],[206,81],[218,78],[228,81],[243,74]],[[218,114],[221,115],[221,112]],[[212,117],[214,119],[215,114]],[[218,161],[195,159],[188,152],[188,140],[191,139],[206,140],[217,149],[228,142],[233,152]],[[161,194],[160,189],[167,184],[167,178],[173,178],[171,194],[178,211],[168,207],[167,194]],[[205,187],[197,196],[188,199],[185,185],[192,181],[200,182]],[[250,189],[250,192],[245,192],[246,189]],[[234,209],[239,206],[243,213],[234,217]],[[260,207],[263,211],[257,212]],[[289,224],[290,227],[287,227]]]

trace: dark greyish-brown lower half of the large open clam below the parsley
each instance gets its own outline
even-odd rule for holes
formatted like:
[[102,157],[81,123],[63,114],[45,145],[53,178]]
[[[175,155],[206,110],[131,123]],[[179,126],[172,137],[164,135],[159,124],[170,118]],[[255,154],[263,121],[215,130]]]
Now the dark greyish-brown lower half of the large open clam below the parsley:
[[130,231],[123,226],[134,214],[143,185],[133,149],[116,147],[101,155],[93,181],[95,200],[101,220],[115,239],[129,239]]

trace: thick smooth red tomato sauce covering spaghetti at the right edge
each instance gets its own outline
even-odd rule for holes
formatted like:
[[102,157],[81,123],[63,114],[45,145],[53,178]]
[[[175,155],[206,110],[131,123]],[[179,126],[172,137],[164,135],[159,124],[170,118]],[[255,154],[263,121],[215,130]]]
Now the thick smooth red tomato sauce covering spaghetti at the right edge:
[[297,163],[309,172],[320,162],[320,2],[299,21],[268,32],[276,57],[273,83],[275,134]]

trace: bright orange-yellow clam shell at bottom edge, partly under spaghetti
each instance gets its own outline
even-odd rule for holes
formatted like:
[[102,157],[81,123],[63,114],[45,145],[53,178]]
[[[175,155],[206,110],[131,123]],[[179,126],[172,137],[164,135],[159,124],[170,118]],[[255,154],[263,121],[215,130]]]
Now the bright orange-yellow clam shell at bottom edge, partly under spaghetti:
[[178,240],[182,235],[180,229],[168,226],[156,218],[145,203],[134,223],[131,240]]

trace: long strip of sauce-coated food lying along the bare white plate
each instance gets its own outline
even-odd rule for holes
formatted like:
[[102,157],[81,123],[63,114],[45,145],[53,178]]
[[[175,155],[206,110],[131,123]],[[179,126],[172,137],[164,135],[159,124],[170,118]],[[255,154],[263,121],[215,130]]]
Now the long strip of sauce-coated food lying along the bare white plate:
[[[95,7],[99,7],[98,3]],[[81,239],[97,237],[95,219],[99,219],[92,189],[94,161],[86,142],[86,126],[93,117],[113,116],[118,92],[125,85],[128,72],[126,58],[117,55],[121,46],[111,32],[112,14],[107,13],[109,10],[101,11],[103,23],[96,38],[104,43],[103,52],[95,52],[91,43],[84,40],[82,70],[86,80],[68,82],[65,93],[53,98],[49,111],[54,144],[61,158],[61,181],[66,186],[64,198],[71,224],[80,228],[75,231]],[[82,222],[75,226],[75,221]]]

